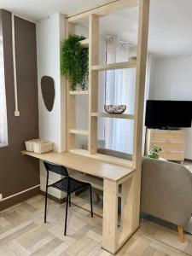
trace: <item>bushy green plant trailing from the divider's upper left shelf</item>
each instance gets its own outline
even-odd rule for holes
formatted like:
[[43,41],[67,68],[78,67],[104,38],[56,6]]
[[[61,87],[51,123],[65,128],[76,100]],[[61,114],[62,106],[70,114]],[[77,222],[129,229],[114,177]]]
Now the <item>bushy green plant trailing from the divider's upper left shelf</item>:
[[86,90],[89,76],[89,50],[82,48],[79,41],[83,36],[70,34],[61,44],[61,74],[67,75],[71,90],[76,90],[79,85]]

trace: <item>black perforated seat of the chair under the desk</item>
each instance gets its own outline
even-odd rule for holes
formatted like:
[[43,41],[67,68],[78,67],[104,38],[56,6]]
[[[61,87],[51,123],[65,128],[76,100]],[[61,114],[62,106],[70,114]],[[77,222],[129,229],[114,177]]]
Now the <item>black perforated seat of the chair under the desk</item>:
[[[73,193],[78,189],[82,189],[88,186],[90,186],[90,183],[84,183],[77,179],[74,179],[73,177],[69,177],[69,191],[68,191],[69,193]],[[67,192],[67,188],[68,188],[67,178],[64,177],[61,180],[49,185],[49,187],[60,189],[61,191]]]

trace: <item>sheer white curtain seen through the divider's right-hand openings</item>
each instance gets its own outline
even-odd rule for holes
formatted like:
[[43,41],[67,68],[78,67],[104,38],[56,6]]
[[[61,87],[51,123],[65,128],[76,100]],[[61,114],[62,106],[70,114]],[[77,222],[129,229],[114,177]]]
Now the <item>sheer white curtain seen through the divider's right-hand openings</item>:
[[[129,60],[129,44],[107,38],[107,63]],[[106,104],[126,105],[134,113],[136,68],[109,70],[106,73]],[[105,120],[105,148],[132,154],[134,122],[129,119]]]

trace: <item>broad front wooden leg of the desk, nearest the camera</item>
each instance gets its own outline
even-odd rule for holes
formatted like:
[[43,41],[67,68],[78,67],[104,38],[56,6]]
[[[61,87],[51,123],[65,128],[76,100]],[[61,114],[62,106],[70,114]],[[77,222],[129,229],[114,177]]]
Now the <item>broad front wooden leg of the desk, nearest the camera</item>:
[[109,253],[117,251],[118,184],[104,179],[102,247]]

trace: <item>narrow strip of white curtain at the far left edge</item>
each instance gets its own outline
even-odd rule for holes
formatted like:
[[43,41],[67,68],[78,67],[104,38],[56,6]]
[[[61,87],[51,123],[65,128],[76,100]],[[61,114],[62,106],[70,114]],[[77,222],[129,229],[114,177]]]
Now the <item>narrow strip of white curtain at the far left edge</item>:
[[3,38],[0,37],[0,147],[8,144],[7,108],[4,82]]

